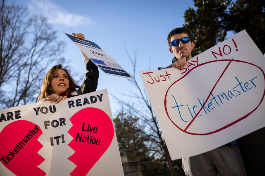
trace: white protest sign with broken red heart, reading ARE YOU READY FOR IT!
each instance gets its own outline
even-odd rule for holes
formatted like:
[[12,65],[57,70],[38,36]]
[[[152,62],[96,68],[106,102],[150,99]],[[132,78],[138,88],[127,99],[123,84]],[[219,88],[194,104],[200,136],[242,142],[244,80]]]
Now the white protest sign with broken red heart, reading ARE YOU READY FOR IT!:
[[107,89],[0,113],[0,175],[124,175]]

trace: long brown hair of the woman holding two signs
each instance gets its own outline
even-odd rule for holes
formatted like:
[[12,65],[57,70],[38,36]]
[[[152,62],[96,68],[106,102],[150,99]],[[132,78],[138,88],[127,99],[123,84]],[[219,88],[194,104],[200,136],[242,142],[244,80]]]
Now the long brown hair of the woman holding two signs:
[[66,95],[68,95],[69,90],[76,90],[76,88],[79,88],[80,86],[77,85],[77,83],[74,81],[74,79],[71,77],[71,71],[68,68],[69,66],[65,66],[63,68],[63,66],[61,64],[59,65],[54,65],[45,75],[42,85],[41,85],[41,94],[38,97],[38,101],[41,101],[44,98],[47,98],[48,96],[50,96],[51,94],[53,94],[52,90],[51,90],[51,81],[54,77],[54,73],[56,70],[58,69],[62,69],[66,72],[67,76],[68,76],[68,80],[69,80],[69,88],[66,90]]

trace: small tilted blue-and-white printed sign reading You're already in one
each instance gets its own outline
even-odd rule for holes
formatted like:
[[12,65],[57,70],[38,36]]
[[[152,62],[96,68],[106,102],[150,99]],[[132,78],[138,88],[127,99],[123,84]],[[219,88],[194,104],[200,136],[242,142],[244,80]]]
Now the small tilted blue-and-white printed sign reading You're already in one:
[[67,35],[105,74],[132,78],[108,53],[95,42],[82,40],[71,34]]

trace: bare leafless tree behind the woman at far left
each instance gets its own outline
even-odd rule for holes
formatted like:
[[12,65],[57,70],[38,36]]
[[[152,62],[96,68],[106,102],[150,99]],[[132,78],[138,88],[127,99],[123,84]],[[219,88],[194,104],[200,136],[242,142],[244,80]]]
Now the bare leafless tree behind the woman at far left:
[[0,12],[0,97],[2,108],[36,102],[48,67],[65,44],[41,16],[27,17],[27,8],[7,5]]

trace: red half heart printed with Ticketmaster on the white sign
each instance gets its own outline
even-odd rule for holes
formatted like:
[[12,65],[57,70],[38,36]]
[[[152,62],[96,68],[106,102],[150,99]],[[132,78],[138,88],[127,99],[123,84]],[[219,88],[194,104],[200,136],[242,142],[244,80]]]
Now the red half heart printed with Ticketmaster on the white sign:
[[37,152],[42,145],[37,141],[40,127],[26,120],[8,124],[0,133],[1,163],[16,175],[46,175],[37,166],[44,161]]

